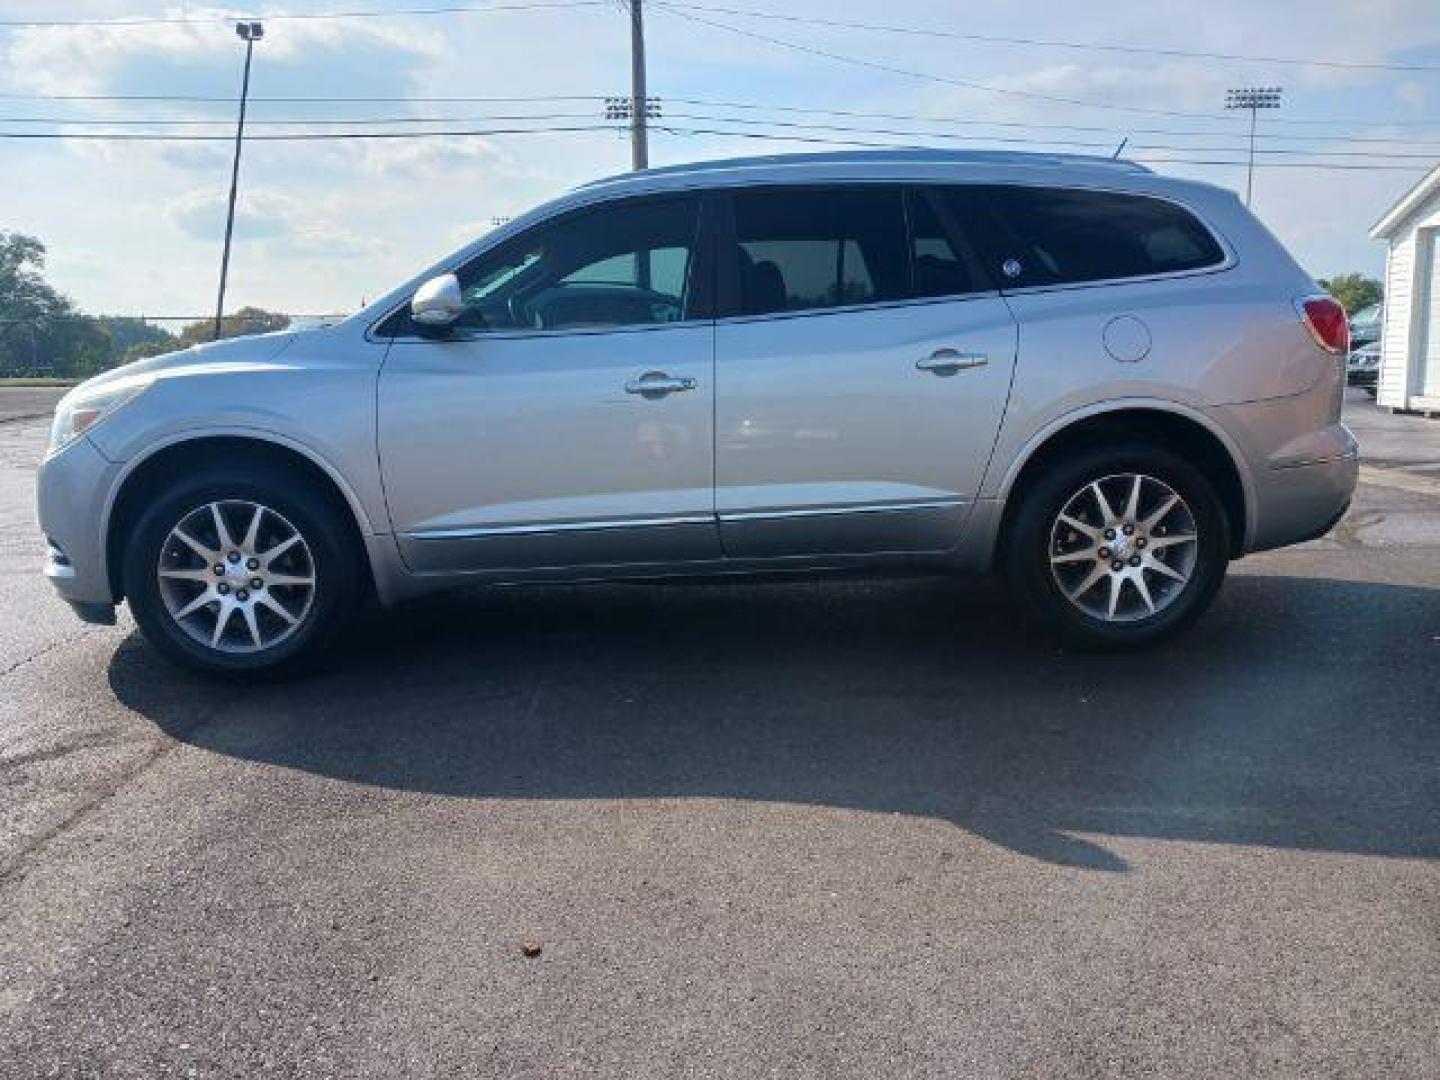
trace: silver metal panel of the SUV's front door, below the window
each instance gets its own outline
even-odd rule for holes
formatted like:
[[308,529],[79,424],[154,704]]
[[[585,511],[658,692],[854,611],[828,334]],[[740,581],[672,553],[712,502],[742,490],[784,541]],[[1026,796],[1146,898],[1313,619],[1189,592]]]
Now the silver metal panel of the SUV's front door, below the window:
[[[693,389],[626,392],[647,373]],[[418,573],[720,554],[710,321],[396,341],[379,402],[390,517]]]

